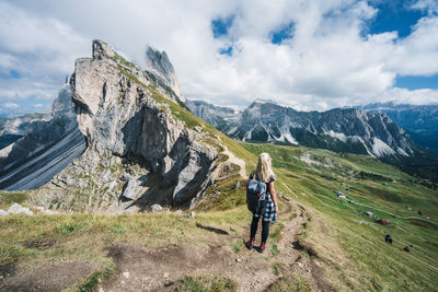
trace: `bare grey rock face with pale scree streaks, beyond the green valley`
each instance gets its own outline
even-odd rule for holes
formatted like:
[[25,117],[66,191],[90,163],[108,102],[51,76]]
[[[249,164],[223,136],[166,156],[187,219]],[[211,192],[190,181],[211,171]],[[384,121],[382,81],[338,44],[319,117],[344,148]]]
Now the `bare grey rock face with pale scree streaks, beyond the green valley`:
[[[210,105],[209,108],[207,120],[215,120],[211,117],[215,107]],[[204,117],[198,110],[194,113]],[[377,157],[414,154],[414,147],[405,131],[379,113],[353,108],[297,112],[270,101],[257,100],[241,114],[230,115],[222,121],[218,128],[242,141],[301,144]]]

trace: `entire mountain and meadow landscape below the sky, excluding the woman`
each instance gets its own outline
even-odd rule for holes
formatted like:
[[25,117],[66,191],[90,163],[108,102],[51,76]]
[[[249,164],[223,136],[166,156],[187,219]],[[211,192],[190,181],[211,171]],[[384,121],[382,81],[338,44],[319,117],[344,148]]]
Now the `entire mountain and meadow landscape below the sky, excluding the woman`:
[[94,40],[49,113],[0,119],[0,291],[436,291],[436,157],[390,113],[239,112],[185,98],[164,51],[145,68]]

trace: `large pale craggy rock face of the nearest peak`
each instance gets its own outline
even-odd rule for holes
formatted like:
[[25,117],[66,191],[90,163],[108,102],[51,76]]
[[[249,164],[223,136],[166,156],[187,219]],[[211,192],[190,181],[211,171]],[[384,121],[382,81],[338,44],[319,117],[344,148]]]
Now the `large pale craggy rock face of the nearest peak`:
[[[169,65],[164,69],[173,72]],[[70,84],[88,148],[35,191],[38,205],[117,212],[153,203],[188,207],[201,194],[220,148],[206,142],[216,138],[203,125],[187,126],[184,115],[191,114],[151,74],[101,40],[93,42],[93,58],[77,60]]]

